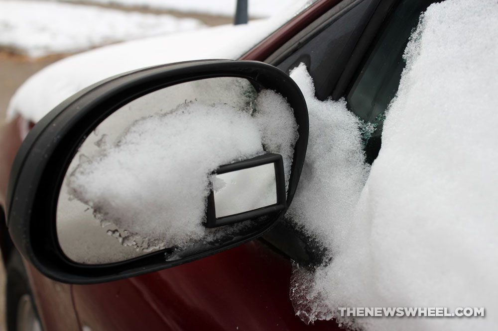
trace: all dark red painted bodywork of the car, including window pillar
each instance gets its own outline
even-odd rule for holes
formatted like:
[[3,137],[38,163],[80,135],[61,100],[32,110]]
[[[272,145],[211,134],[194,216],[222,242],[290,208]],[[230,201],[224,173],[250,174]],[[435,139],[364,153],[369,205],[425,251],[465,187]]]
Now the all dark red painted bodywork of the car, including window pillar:
[[[339,0],[320,0],[245,54],[264,61]],[[23,119],[0,131],[0,204],[21,144]],[[3,214],[3,213],[2,213]],[[3,260],[12,244],[0,222]],[[334,330],[304,324],[289,299],[292,261],[255,240],[194,262],[96,285],[62,284],[25,267],[44,330]]]

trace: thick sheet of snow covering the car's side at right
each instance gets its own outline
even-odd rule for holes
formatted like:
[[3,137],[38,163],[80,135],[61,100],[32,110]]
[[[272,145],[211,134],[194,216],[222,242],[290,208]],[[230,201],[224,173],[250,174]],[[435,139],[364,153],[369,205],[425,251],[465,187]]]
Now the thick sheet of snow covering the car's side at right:
[[[379,156],[343,225],[347,240],[293,288],[301,317],[330,319],[337,307],[485,307],[485,318],[357,318],[350,326],[496,330],[497,17],[496,0],[427,9],[405,51]],[[337,227],[332,217],[324,210],[312,230]]]

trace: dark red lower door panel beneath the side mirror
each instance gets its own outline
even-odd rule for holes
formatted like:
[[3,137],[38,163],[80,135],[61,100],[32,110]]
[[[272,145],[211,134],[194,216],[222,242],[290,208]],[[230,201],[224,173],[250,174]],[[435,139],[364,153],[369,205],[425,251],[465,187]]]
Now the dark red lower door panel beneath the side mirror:
[[307,326],[289,299],[291,262],[260,241],[174,268],[73,285],[82,326],[92,330],[339,330]]

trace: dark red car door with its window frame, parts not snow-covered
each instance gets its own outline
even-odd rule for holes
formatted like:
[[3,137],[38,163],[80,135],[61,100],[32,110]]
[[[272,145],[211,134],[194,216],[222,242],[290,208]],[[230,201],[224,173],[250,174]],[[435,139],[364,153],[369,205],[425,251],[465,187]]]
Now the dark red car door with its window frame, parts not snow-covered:
[[[265,62],[289,71],[306,64],[319,99],[345,97],[375,130],[364,136],[367,162],[380,149],[383,112],[394,97],[402,54],[432,1],[343,1]],[[250,53],[245,59],[250,59]],[[260,240],[194,262],[96,285],[73,285],[85,330],[334,330],[306,325],[289,299],[292,260],[321,262],[319,245],[280,222]]]

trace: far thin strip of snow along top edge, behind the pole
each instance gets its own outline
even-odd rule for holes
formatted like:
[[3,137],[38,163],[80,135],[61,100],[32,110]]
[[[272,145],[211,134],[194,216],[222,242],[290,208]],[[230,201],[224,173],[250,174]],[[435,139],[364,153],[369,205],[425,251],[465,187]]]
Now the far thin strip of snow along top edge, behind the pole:
[[[63,1],[81,2],[81,0]],[[233,16],[237,5],[237,0],[85,0],[85,2],[222,16]],[[292,2],[293,0],[249,0],[249,15],[252,17],[269,17],[285,10]],[[301,2],[304,3],[305,0]]]

